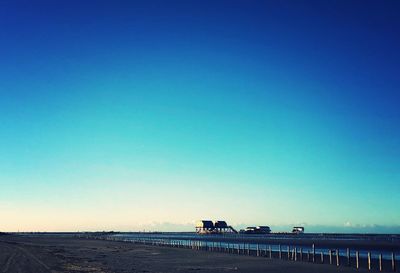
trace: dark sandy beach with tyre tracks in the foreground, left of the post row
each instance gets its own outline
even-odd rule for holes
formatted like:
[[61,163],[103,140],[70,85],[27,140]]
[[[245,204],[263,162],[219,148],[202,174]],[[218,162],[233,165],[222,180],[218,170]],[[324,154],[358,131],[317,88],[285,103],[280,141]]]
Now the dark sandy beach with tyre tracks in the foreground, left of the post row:
[[348,267],[60,236],[0,236],[0,273],[368,272]]

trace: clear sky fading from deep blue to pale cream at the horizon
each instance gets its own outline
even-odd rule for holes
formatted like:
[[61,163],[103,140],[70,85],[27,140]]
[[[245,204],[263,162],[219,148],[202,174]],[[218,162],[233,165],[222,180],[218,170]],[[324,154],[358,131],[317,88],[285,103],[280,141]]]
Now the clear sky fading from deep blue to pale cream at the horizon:
[[399,14],[1,0],[0,230],[400,232]]

